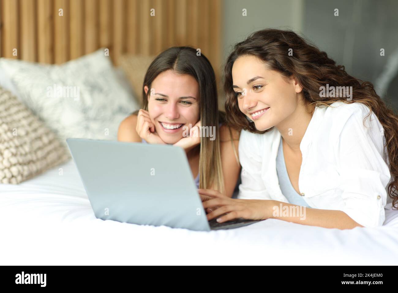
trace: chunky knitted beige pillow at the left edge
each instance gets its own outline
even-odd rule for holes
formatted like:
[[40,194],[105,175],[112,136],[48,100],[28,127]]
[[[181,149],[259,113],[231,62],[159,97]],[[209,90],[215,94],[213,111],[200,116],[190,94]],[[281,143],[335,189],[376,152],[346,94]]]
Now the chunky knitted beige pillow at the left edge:
[[0,182],[18,184],[70,158],[55,133],[0,87]]

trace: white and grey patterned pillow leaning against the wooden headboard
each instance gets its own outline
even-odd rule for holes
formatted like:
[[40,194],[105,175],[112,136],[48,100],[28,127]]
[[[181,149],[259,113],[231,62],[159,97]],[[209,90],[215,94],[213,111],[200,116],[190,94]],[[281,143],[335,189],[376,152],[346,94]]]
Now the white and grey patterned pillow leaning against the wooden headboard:
[[120,122],[138,109],[104,50],[61,65],[0,59],[17,96],[62,140],[117,140]]

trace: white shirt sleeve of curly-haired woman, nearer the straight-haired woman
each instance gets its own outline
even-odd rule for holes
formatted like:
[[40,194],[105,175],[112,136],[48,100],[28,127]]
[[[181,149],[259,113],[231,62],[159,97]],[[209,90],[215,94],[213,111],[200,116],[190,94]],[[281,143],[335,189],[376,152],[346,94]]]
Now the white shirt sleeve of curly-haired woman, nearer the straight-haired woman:
[[261,179],[261,135],[242,130],[239,139],[240,174],[238,199],[271,199]]

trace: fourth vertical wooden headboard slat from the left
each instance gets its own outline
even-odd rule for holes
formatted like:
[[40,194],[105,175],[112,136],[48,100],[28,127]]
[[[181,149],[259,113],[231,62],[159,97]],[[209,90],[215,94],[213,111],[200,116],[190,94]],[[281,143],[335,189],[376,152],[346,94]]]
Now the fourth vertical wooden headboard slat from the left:
[[[63,16],[59,16],[63,9]],[[64,63],[69,60],[69,1],[54,1],[54,61]]]

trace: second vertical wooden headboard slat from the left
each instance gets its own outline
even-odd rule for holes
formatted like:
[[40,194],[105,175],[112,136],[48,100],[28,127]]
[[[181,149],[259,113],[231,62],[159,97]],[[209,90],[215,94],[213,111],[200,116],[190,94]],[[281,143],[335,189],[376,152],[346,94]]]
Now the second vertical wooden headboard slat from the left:
[[36,1],[20,0],[21,59],[37,61]]

